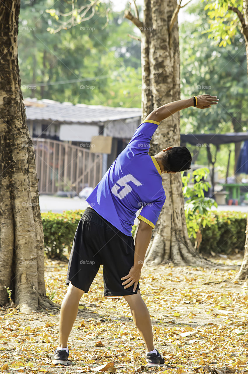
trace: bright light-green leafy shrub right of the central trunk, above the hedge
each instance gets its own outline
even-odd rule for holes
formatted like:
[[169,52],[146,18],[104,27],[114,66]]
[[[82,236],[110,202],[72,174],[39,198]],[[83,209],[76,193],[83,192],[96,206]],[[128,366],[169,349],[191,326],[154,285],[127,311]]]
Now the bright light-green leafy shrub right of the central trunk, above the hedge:
[[[208,191],[210,184],[205,182],[209,174],[208,168],[199,168],[192,173],[182,177],[183,196],[188,198],[185,202],[185,217],[189,237],[197,237],[197,232],[201,227],[205,227],[209,221],[210,209],[217,203],[210,197],[204,197],[204,191]],[[191,182],[191,186],[189,183]]]

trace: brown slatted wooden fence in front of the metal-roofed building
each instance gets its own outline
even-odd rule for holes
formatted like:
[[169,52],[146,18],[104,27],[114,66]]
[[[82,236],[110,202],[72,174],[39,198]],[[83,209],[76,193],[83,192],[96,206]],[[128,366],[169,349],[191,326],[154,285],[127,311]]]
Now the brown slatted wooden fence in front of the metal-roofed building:
[[79,193],[86,185],[95,187],[102,177],[102,154],[56,140],[32,139],[35,150],[38,190]]

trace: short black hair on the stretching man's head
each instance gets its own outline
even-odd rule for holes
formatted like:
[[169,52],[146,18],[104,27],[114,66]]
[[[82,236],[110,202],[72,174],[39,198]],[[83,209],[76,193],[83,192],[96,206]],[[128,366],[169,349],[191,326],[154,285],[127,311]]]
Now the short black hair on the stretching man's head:
[[192,157],[186,147],[173,147],[163,152],[161,157],[167,171],[184,171],[191,167]]

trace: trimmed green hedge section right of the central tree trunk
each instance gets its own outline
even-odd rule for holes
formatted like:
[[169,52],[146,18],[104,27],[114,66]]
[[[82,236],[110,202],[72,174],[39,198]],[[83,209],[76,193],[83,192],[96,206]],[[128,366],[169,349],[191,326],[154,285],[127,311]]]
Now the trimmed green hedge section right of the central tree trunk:
[[[241,212],[211,212],[204,228],[199,247],[204,253],[228,254],[234,249],[244,250],[247,214]],[[192,244],[194,239],[191,237]]]

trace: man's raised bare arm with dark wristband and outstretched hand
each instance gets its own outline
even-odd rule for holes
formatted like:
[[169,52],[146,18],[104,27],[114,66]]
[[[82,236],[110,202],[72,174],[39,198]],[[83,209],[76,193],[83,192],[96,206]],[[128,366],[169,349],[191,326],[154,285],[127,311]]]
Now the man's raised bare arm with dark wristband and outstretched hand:
[[[196,107],[199,109],[206,109],[210,108],[211,105],[218,104],[219,99],[217,96],[211,95],[198,95],[195,96],[197,98],[197,105]],[[169,104],[165,104],[162,107],[154,109],[148,116],[146,120],[153,120],[153,121],[163,121],[163,119],[170,117],[172,114],[178,112],[179,110],[193,107],[194,106],[194,99],[185,99],[185,100],[178,100],[169,102]]]

